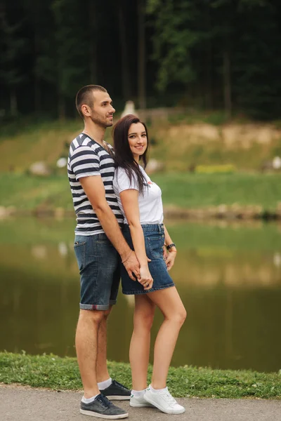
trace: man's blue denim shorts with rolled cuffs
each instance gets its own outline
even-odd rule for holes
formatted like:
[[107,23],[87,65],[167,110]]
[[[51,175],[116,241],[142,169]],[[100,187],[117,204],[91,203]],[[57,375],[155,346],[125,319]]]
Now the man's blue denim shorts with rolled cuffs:
[[117,302],[121,260],[105,234],[76,235],[74,252],[80,273],[80,308],[107,310]]

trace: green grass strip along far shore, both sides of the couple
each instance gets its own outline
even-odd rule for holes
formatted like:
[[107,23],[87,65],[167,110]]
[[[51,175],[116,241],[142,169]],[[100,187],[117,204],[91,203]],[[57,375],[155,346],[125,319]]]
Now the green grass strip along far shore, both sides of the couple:
[[[240,206],[261,206],[263,210],[274,210],[281,201],[278,174],[157,173],[151,178],[162,188],[164,205],[207,208],[237,203]],[[1,206],[15,206],[18,210],[72,210],[66,173],[48,178],[0,173],[0,186]]]

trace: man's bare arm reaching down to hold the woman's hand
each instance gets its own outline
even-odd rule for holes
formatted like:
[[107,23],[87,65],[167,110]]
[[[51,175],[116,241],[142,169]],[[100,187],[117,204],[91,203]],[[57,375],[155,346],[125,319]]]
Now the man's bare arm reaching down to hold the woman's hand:
[[[133,281],[132,272],[139,277],[140,265],[136,258],[135,253],[129,248],[128,243],[122,235],[121,229],[115,218],[115,214],[108,205],[105,199],[105,187],[100,175],[91,175],[89,177],[79,178],[81,186],[88,197],[93,210],[96,212],[100,225],[103,227],[108,239],[112,242],[118,251],[121,259],[124,260],[124,267]],[[128,258],[129,257],[129,258]]]

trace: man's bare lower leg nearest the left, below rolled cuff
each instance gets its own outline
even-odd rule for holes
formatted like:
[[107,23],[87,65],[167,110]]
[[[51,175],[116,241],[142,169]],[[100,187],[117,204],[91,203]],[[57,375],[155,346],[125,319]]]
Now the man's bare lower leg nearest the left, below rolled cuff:
[[84,396],[87,399],[100,393],[97,384],[96,361],[98,330],[103,319],[103,311],[81,309],[77,323],[75,345]]

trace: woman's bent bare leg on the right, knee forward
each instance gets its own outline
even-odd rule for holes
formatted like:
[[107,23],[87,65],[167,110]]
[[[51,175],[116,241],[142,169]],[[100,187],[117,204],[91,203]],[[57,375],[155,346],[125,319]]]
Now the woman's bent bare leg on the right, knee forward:
[[186,312],[175,286],[148,293],[148,297],[164,315],[164,321],[155,341],[151,382],[154,389],[164,389],[171,357],[174,353],[178,333],[185,321]]

